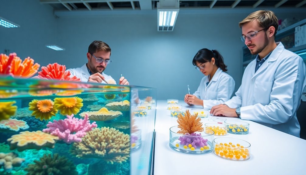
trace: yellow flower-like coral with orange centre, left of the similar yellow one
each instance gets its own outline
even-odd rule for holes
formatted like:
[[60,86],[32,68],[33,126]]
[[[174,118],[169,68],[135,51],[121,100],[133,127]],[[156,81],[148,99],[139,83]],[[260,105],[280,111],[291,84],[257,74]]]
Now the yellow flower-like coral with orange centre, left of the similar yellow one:
[[32,100],[29,103],[29,110],[32,110],[32,116],[42,120],[49,120],[52,116],[57,114],[58,110],[55,108],[54,103],[50,99],[45,100]]

